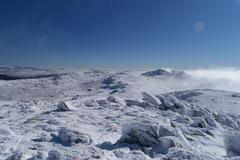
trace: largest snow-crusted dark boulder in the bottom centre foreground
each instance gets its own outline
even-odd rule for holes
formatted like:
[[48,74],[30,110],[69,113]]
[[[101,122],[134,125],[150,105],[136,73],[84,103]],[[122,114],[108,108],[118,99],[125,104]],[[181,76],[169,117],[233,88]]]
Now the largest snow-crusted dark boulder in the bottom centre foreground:
[[[115,145],[133,144],[144,149],[151,147],[151,152],[166,154],[171,147],[181,147],[177,131],[164,122],[158,124],[132,124],[125,126],[122,137]],[[121,146],[121,145],[120,145]]]

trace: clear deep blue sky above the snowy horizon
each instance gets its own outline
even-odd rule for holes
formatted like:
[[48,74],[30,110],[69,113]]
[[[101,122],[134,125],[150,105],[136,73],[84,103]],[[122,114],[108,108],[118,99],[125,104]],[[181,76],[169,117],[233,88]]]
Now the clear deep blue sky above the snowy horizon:
[[1,0],[0,65],[239,67],[239,0]]

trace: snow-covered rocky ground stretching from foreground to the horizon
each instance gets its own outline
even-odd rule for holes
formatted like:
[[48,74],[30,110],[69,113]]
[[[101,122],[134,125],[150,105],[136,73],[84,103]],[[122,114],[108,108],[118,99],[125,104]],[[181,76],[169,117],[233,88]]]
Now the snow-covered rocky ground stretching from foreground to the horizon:
[[240,93],[225,80],[36,68],[0,79],[1,160],[240,159]]

